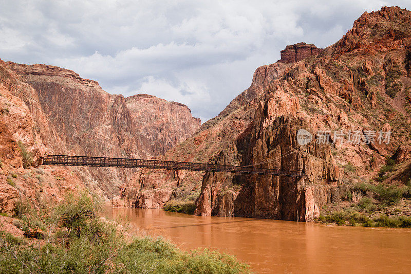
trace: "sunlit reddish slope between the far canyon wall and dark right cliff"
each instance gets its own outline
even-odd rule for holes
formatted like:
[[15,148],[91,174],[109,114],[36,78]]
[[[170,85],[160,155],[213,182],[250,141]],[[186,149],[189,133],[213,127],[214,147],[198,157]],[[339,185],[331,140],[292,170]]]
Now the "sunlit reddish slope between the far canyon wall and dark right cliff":
[[[270,82],[282,76],[290,66],[291,64],[278,62],[258,67],[248,89],[234,98],[219,115],[203,123],[191,138],[158,158],[176,161],[219,162],[218,159],[226,157],[225,162],[230,165],[239,165],[241,157],[238,154],[235,140],[240,135],[247,135],[251,130],[257,105],[262,96],[264,97]],[[207,182],[214,180],[210,174],[206,174],[204,179],[202,175],[200,172],[189,171],[141,171],[134,174],[133,178],[122,186],[120,195],[126,206],[140,208],[162,208],[169,199],[195,200],[208,185]],[[221,182],[231,182],[233,179],[233,175],[218,174],[215,176],[220,177],[217,181]],[[227,184],[222,183],[222,185],[224,188],[228,187]],[[214,189],[214,187],[208,188]],[[231,193],[231,190],[229,192]],[[217,191],[213,193],[217,194]],[[210,196],[207,199],[207,203],[210,204],[209,201],[215,199],[216,196],[211,197],[213,195],[211,191],[207,195]],[[206,203],[206,199],[202,200]],[[215,212],[215,207],[208,208],[208,213],[204,214],[211,215],[212,210]],[[202,213],[198,211],[197,214]]]

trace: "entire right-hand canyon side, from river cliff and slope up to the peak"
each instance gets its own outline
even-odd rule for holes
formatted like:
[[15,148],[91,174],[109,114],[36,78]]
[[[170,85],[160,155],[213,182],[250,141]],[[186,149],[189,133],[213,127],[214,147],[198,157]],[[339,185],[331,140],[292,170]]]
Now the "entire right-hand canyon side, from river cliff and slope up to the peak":
[[[396,151],[409,147],[409,20],[409,11],[383,7],[327,48],[287,46],[218,116],[159,157],[303,170],[302,179],[142,171],[122,186],[125,205],[162,208],[185,199],[195,200],[196,215],[313,221],[327,205],[349,206],[351,196],[358,202],[365,195],[358,184],[407,184],[411,163]],[[298,145],[299,129],[329,132],[329,140]],[[351,131],[361,142],[348,141]],[[391,140],[364,142],[368,131],[390,132]],[[379,177],[387,157],[398,165],[395,179]],[[410,213],[407,206],[401,212]]]

